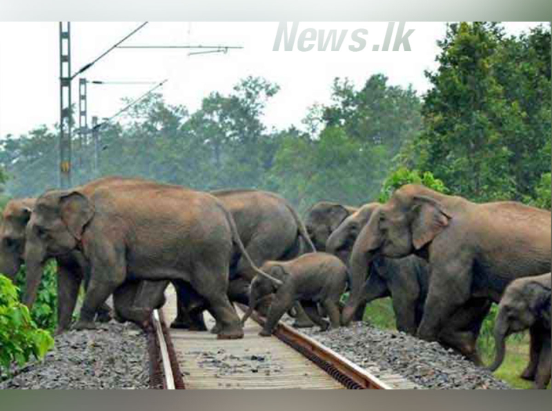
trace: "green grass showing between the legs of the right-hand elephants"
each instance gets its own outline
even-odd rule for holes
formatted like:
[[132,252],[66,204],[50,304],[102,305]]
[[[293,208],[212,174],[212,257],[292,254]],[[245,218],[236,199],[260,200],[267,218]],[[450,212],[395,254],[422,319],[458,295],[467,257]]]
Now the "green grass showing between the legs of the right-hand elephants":
[[[493,315],[493,312],[491,312],[491,316],[486,320],[483,329],[484,336],[480,338],[482,358],[486,364],[492,363],[494,356],[494,341],[492,341],[492,338],[489,338],[489,329],[492,329]],[[368,304],[364,312],[364,321],[368,321],[380,329],[397,329],[395,327],[395,314],[393,314],[391,298],[381,298]],[[506,347],[506,359],[504,359],[502,366],[494,373],[495,376],[502,381],[506,381],[513,388],[523,390],[531,388],[533,383],[520,378],[529,361],[529,334],[512,336],[506,343]]]

